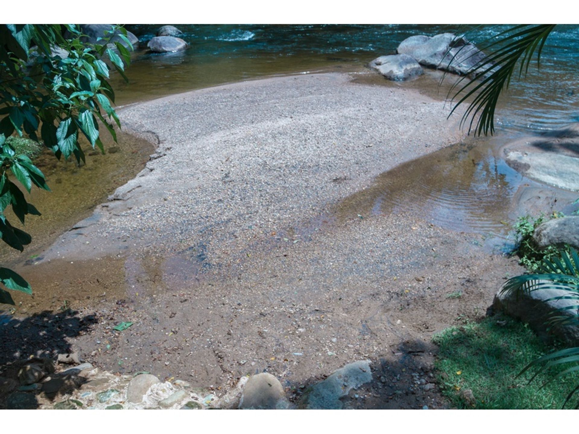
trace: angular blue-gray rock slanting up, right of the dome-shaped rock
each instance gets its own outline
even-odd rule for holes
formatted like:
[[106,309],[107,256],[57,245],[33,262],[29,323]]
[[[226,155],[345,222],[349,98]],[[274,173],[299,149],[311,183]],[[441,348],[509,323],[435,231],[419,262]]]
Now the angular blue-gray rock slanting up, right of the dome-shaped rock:
[[302,398],[300,407],[306,409],[342,409],[340,398],[351,389],[372,381],[370,361],[363,360],[350,363],[326,378],[314,384]]

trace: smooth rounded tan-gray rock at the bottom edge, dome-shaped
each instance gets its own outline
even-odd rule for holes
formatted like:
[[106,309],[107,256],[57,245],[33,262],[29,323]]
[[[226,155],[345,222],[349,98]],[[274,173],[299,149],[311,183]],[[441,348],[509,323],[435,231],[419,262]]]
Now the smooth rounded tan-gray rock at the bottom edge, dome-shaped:
[[245,384],[240,409],[284,409],[288,407],[284,388],[272,374],[251,376]]

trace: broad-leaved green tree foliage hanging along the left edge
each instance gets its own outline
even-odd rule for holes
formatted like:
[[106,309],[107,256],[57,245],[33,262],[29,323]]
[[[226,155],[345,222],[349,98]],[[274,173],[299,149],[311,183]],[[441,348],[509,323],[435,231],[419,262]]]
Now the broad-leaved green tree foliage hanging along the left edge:
[[[115,124],[120,127],[120,122],[113,109],[109,65],[126,80],[124,67],[133,47],[123,27],[105,33],[97,43],[89,43],[83,42],[79,25],[0,25],[0,236],[14,249],[23,251],[31,237],[10,224],[6,209],[12,207],[23,225],[27,215],[40,215],[18,184],[28,192],[33,186],[50,188],[32,160],[17,153],[7,139],[28,137],[58,159],[72,156],[79,164],[85,162],[81,134],[104,153],[97,120],[116,141]],[[109,43],[113,35],[124,44]],[[12,270],[0,268],[0,282],[7,289],[32,293],[28,282]],[[14,303],[1,288],[0,303]]]

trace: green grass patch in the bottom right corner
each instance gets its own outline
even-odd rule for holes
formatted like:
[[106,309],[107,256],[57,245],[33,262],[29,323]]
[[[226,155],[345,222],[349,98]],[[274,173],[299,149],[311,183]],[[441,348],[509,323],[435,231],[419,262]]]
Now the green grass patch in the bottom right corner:
[[[515,378],[549,347],[526,325],[508,317],[451,327],[433,340],[439,346],[435,367],[442,393],[459,409],[560,409],[579,384],[577,373],[544,388],[548,377],[543,374],[530,384],[534,371]],[[466,389],[475,397],[474,406],[461,396]]]

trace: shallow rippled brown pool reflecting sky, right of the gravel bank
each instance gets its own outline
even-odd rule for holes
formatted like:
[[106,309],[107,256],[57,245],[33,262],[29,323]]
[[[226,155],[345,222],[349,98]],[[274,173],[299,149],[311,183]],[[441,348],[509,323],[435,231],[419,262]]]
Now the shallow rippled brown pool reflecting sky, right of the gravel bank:
[[523,176],[485,145],[455,145],[398,165],[342,201],[340,219],[413,214],[437,226],[505,236]]

